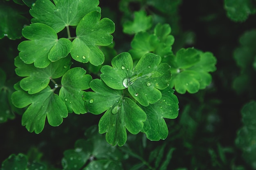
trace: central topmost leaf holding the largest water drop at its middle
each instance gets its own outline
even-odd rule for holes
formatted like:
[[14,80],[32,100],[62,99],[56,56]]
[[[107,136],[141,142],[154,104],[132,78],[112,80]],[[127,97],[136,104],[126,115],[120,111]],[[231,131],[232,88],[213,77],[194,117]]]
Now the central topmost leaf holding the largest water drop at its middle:
[[158,89],[166,88],[171,79],[169,65],[160,62],[159,55],[146,53],[132,70],[130,54],[121,53],[113,58],[113,67],[101,68],[101,79],[111,88],[128,88],[132,97],[141,105],[148,106],[161,99],[162,94]]

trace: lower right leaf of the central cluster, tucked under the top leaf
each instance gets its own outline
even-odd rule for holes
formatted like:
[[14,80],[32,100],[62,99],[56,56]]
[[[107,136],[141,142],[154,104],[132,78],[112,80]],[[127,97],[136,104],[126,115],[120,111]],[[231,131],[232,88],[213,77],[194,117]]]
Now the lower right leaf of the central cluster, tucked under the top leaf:
[[158,102],[147,107],[141,106],[147,115],[142,132],[152,141],[166,139],[168,128],[164,118],[175,119],[178,116],[179,102],[173,94],[173,89],[168,87],[161,92],[162,98]]

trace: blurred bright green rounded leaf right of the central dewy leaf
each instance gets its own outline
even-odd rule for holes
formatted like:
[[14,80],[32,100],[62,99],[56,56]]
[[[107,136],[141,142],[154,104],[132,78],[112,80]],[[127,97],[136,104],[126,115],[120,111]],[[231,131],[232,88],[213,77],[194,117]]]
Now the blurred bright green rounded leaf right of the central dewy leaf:
[[176,55],[171,66],[170,86],[178,93],[196,93],[211,83],[208,72],[216,70],[216,58],[212,53],[189,48],[180,49]]

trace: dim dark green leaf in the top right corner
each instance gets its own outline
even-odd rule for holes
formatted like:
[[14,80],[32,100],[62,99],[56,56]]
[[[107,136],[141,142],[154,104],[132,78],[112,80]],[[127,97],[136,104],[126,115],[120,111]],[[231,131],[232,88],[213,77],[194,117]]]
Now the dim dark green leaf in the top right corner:
[[225,0],[224,5],[227,16],[235,22],[243,22],[250,14],[256,12],[256,8],[250,0]]

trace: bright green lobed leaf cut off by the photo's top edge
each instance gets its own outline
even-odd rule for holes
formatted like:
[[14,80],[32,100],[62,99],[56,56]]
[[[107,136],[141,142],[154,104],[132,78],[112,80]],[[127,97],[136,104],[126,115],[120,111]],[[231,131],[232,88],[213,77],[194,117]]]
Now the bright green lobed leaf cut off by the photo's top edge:
[[91,11],[101,11],[99,0],[37,0],[29,13],[31,22],[41,22],[52,27],[56,33],[65,26],[76,26]]

